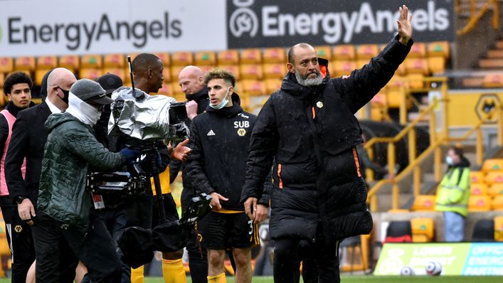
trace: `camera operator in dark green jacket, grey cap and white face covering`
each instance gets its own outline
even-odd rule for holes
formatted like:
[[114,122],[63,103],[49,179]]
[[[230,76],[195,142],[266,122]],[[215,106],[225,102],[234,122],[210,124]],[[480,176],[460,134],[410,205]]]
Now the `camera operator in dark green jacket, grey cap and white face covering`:
[[[92,198],[85,189],[89,166],[112,171],[139,156],[139,151],[132,149],[113,153],[94,137],[92,126],[111,102],[97,82],[78,80],[70,88],[68,110],[47,119],[48,138],[33,225],[38,283],[54,282],[58,277],[58,269],[41,272],[38,266],[58,265],[71,252],[88,268],[91,282],[120,282],[121,262],[112,238],[92,213]],[[70,250],[56,250],[61,239]]]

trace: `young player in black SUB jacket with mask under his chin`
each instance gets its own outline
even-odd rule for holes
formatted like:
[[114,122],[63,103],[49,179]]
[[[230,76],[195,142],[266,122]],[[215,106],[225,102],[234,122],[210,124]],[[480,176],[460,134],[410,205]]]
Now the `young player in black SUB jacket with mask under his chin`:
[[208,250],[208,282],[226,282],[223,261],[231,248],[236,265],[235,282],[250,283],[250,247],[259,239],[255,225],[268,213],[268,196],[255,207],[253,219],[240,204],[245,181],[250,134],[256,116],[243,111],[234,92],[232,73],[216,69],[204,78],[210,105],[191,123],[192,153],[186,173],[198,193],[211,196],[213,211],[200,221],[203,246]]

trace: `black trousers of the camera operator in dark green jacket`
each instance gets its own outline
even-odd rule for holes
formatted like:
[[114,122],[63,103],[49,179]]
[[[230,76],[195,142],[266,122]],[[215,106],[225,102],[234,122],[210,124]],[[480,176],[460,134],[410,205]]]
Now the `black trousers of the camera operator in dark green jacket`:
[[[37,283],[54,282],[54,278],[57,278],[53,274],[51,279],[46,281],[48,275],[39,272],[41,271],[38,269],[39,265],[46,267],[51,263],[54,265],[54,262],[60,262],[61,265],[64,262],[63,258],[71,257],[70,252],[73,252],[78,260],[88,268],[88,274],[83,282],[121,282],[122,262],[117,256],[117,252],[115,252],[114,242],[107,231],[105,223],[99,217],[91,216],[89,228],[85,233],[75,228],[75,226],[61,225],[57,220],[44,213],[38,213],[37,222],[40,224],[38,229],[41,230],[38,235],[43,238],[42,240],[36,238]],[[55,229],[55,232],[48,232],[48,228]],[[59,257],[58,255],[48,255],[53,249],[50,245],[58,245],[65,241],[70,249],[59,250]],[[39,257],[41,257],[40,262]],[[48,262],[48,258],[55,261]],[[70,266],[67,265],[68,268],[73,267],[74,270],[75,266],[74,262],[71,262]],[[39,280],[39,274],[44,279]]]

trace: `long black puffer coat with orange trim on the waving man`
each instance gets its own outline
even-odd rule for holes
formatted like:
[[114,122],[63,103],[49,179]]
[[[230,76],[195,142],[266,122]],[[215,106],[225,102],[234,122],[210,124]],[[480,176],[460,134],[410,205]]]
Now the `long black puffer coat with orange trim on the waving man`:
[[319,223],[326,240],[369,233],[371,214],[355,146],[361,128],[354,113],[391,79],[411,48],[394,38],[370,63],[349,78],[329,78],[327,60],[322,85],[299,85],[288,73],[258,115],[242,199],[260,196],[272,161],[272,238],[316,240]]

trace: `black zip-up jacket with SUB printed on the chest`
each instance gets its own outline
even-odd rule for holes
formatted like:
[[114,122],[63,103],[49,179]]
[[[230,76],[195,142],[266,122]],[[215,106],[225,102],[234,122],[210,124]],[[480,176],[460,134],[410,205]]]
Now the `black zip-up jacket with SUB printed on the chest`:
[[[256,116],[240,107],[237,94],[232,95],[232,100],[233,106],[221,110],[208,107],[206,113],[192,120],[192,153],[186,163],[186,178],[197,193],[216,192],[228,198],[229,201],[221,201],[222,208],[243,211],[241,188]],[[266,195],[267,192],[260,204],[268,205]]]

